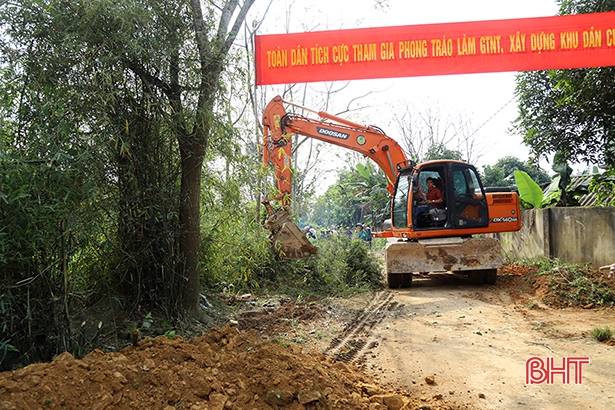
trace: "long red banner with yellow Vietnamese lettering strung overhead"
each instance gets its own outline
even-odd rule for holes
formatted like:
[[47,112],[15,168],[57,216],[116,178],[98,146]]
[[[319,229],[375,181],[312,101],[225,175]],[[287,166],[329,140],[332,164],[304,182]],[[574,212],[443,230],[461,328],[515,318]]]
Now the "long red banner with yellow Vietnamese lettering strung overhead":
[[615,12],[256,36],[257,85],[615,65]]

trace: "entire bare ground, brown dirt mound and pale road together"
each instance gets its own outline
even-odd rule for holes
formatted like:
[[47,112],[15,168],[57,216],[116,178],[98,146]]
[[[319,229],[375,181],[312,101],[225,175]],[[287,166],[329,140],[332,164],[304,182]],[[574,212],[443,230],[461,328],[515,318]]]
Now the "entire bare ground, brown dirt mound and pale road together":
[[[165,334],[0,373],[0,409],[613,408],[615,346],[591,337],[615,328],[613,308],[562,308],[575,295],[524,269],[507,266],[494,286],[431,275],[347,298],[241,296],[222,329],[190,340]],[[587,275],[583,292],[600,283],[610,304],[615,278]],[[549,357],[562,368],[576,358],[582,377],[570,365],[569,384],[527,384],[526,361]]]

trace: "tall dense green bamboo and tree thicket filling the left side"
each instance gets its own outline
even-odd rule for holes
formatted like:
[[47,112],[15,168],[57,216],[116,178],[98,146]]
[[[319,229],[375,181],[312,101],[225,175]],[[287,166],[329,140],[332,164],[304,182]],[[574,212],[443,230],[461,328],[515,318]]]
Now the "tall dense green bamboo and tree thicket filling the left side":
[[[121,292],[127,308],[180,316],[195,272],[187,256],[199,254],[198,205],[245,203],[233,177],[253,174],[258,162],[241,157],[240,127],[218,93],[223,47],[236,30],[219,27],[211,3],[203,7],[208,58],[197,55],[185,2],[2,5],[0,341],[23,361],[77,353],[71,316],[96,295]],[[218,29],[231,34],[216,38]],[[182,192],[182,164],[194,158],[197,178]],[[215,165],[201,172],[204,161]],[[180,223],[186,204],[197,212]],[[206,237],[224,232],[202,228]],[[196,246],[181,248],[188,235]],[[232,252],[203,259],[222,264],[217,258]]]

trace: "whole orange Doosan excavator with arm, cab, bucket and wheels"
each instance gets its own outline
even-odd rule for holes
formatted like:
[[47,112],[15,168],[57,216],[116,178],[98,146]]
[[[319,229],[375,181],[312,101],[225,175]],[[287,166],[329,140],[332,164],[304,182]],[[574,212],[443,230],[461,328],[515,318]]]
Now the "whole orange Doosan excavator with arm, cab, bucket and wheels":
[[[289,113],[286,106],[316,114],[319,119]],[[463,161],[437,160],[416,164],[391,137],[374,126],[314,111],[273,98],[263,113],[263,160],[273,166],[278,191],[262,202],[269,216],[275,250],[285,258],[306,258],[317,248],[292,221],[292,134],[357,151],[384,171],[391,195],[391,218],[374,237],[389,238],[386,270],[391,288],[408,287],[413,273],[455,272],[473,283],[493,284],[502,266],[495,234],[521,228],[519,197],[506,188],[485,188],[476,169]],[[440,196],[426,204],[434,185]],[[279,203],[274,211],[271,202]],[[429,201],[427,201],[429,202]],[[426,206],[427,205],[427,206]]]

